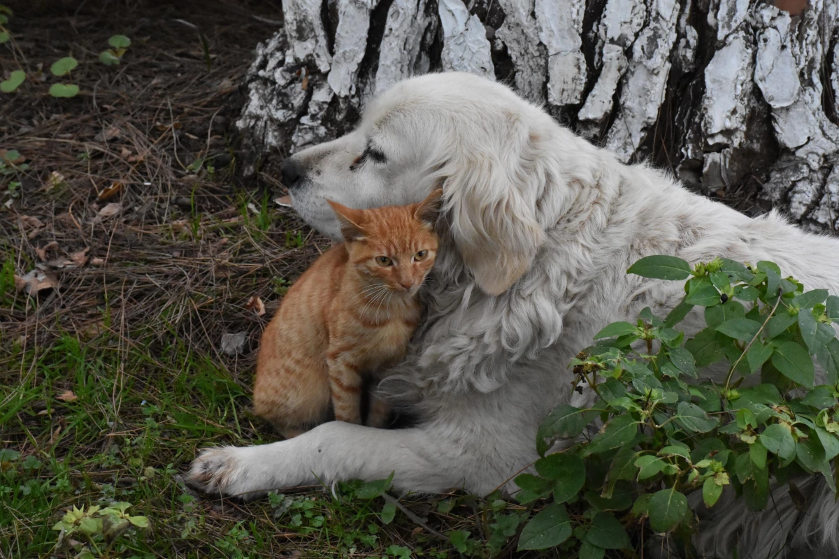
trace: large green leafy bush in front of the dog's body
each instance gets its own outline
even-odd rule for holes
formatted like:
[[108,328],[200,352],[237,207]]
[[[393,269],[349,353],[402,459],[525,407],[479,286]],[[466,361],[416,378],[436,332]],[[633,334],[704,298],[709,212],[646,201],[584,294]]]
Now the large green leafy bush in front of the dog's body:
[[[602,557],[653,531],[690,550],[691,493],[712,508],[731,485],[748,509],[763,510],[773,481],[823,475],[836,490],[839,297],[805,291],[769,261],[717,258],[691,268],[649,256],[628,272],[687,280],[685,297],[666,317],[644,308],[635,323],[609,324],[571,361],[595,401],[560,404],[539,427],[543,458],[535,474],[516,478],[517,498],[550,503],[524,525],[519,549]],[[688,339],[679,324],[694,310],[706,328]],[[826,385],[813,386],[814,358]],[[709,380],[714,365],[727,371],[724,383]],[[595,420],[599,431],[580,437]],[[546,455],[560,439],[578,442]]]

